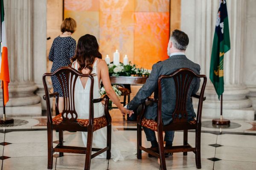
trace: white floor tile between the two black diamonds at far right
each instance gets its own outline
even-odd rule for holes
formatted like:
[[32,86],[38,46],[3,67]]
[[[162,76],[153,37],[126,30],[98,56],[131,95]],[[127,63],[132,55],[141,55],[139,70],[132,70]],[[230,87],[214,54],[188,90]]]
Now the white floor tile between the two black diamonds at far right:
[[216,158],[230,161],[256,162],[256,148],[252,147],[216,147]]

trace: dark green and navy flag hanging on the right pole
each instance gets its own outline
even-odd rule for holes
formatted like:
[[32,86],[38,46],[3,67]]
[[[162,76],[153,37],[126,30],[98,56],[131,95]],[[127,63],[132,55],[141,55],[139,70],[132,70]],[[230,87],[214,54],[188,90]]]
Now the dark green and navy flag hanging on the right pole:
[[220,0],[216,27],[212,43],[210,79],[214,85],[218,98],[224,92],[224,54],[230,50],[230,36],[227,17],[227,0]]

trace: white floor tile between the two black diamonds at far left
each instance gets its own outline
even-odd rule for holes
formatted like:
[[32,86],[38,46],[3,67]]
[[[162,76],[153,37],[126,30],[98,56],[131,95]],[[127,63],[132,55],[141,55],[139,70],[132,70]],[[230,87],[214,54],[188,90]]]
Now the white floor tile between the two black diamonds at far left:
[[14,143],[4,146],[4,156],[47,156],[47,143]]

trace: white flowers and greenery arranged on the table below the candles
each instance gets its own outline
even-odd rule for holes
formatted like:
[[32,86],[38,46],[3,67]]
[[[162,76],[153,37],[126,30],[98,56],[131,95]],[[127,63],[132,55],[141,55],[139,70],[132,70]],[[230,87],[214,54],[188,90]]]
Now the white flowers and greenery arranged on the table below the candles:
[[119,76],[141,76],[148,77],[151,73],[151,70],[145,68],[136,68],[136,65],[132,65],[129,62],[128,65],[123,65],[120,63],[119,65],[108,65],[109,76],[119,77]]

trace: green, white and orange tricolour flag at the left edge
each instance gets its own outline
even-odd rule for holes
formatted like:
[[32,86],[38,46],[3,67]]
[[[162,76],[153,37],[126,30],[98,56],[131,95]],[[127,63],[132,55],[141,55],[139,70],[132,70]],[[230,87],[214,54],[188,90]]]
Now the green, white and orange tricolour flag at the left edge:
[[9,77],[9,67],[8,67],[8,50],[6,45],[6,28],[5,28],[5,17],[4,17],[4,8],[3,8],[3,0],[0,0],[0,18],[1,18],[1,69],[0,69],[0,79],[2,80],[2,88],[4,94],[4,105],[9,100],[9,91],[8,84],[10,82]]

